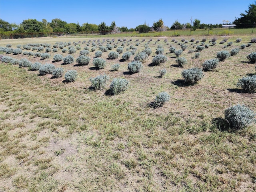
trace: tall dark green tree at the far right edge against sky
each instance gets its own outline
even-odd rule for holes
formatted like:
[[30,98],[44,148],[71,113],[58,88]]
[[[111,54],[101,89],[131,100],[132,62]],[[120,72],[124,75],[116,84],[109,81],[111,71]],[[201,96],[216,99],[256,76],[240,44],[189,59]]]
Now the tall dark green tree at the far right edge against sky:
[[241,27],[251,26],[254,22],[256,22],[256,1],[252,4],[249,4],[248,10],[246,13],[241,13],[239,18],[236,18],[233,24]]

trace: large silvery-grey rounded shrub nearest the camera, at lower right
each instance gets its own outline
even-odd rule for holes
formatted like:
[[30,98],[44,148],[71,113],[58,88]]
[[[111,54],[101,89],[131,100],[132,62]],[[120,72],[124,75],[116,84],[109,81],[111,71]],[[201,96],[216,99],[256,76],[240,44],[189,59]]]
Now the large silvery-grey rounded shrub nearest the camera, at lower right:
[[244,105],[234,105],[225,110],[225,118],[228,120],[231,128],[241,129],[249,124],[256,122],[255,113]]

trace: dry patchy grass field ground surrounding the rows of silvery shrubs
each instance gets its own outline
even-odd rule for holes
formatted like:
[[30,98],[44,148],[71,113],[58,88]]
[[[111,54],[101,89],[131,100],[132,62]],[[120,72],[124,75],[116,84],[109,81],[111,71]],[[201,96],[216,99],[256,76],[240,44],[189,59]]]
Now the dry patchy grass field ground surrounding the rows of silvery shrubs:
[[[218,38],[216,45],[208,42],[214,37]],[[245,104],[256,112],[256,94],[236,87],[238,79],[255,73],[255,64],[246,56],[255,52],[256,43],[219,62],[215,70],[204,72],[204,78],[193,86],[184,85],[181,76],[182,70],[201,67],[217,52],[240,48],[253,37],[195,36],[194,42],[190,42],[193,36],[132,37],[121,38],[121,42],[113,38],[111,45],[123,46],[124,52],[130,46],[141,52],[145,44],[152,50],[139,73],[127,70],[134,55],[129,61],[121,60],[124,52],[118,59],[108,59],[116,48],[102,53],[107,64],[100,70],[92,64],[95,52],[91,50],[87,66],[53,62],[54,54],[68,55],[59,48],[45,60],[7,55],[51,63],[64,72],[74,69],[78,78],[70,83],[64,82],[64,76],[39,76],[38,71],[0,63],[0,191],[255,191],[256,125],[233,130],[224,120],[224,110]],[[180,49],[183,38],[188,40],[188,48],[181,56],[188,64],[180,68],[169,49]],[[203,38],[210,46],[194,58],[195,45]],[[228,41],[220,44],[224,38]],[[237,43],[237,38],[242,41]],[[93,43],[99,46],[97,40],[102,46],[110,43],[100,37],[26,38],[1,40],[0,46],[48,43],[52,48],[61,41],[72,46],[78,42],[83,49]],[[233,44],[223,48],[228,42]],[[158,45],[163,46],[168,60],[153,66]],[[79,52],[71,55],[77,58]],[[120,68],[112,71],[116,63]],[[164,68],[167,73],[159,78],[159,70]],[[106,89],[92,90],[89,78],[100,74],[110,77]],[[128,80],[128,89],[108,95],[116,77]],[[163,91],[170,94],[170,100],[160,108],[150,108],[149,103]]]

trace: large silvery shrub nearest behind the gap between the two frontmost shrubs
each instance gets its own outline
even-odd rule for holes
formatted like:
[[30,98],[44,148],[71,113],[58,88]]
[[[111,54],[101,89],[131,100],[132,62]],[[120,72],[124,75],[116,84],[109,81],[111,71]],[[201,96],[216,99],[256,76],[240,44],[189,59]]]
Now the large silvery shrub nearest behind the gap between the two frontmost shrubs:
[[195,84],[204,77],[204,72],[201,68],[186,69],[181,74],[187,84]]

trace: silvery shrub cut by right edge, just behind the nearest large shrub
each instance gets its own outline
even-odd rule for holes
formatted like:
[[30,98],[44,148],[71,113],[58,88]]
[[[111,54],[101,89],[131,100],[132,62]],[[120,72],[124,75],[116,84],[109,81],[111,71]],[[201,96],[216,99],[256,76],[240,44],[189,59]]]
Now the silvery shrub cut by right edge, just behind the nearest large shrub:
[[256,91],[256,75],[243,77],[238,80],[236,84],[237,87],[240,87],[244,92],[253,93]]

